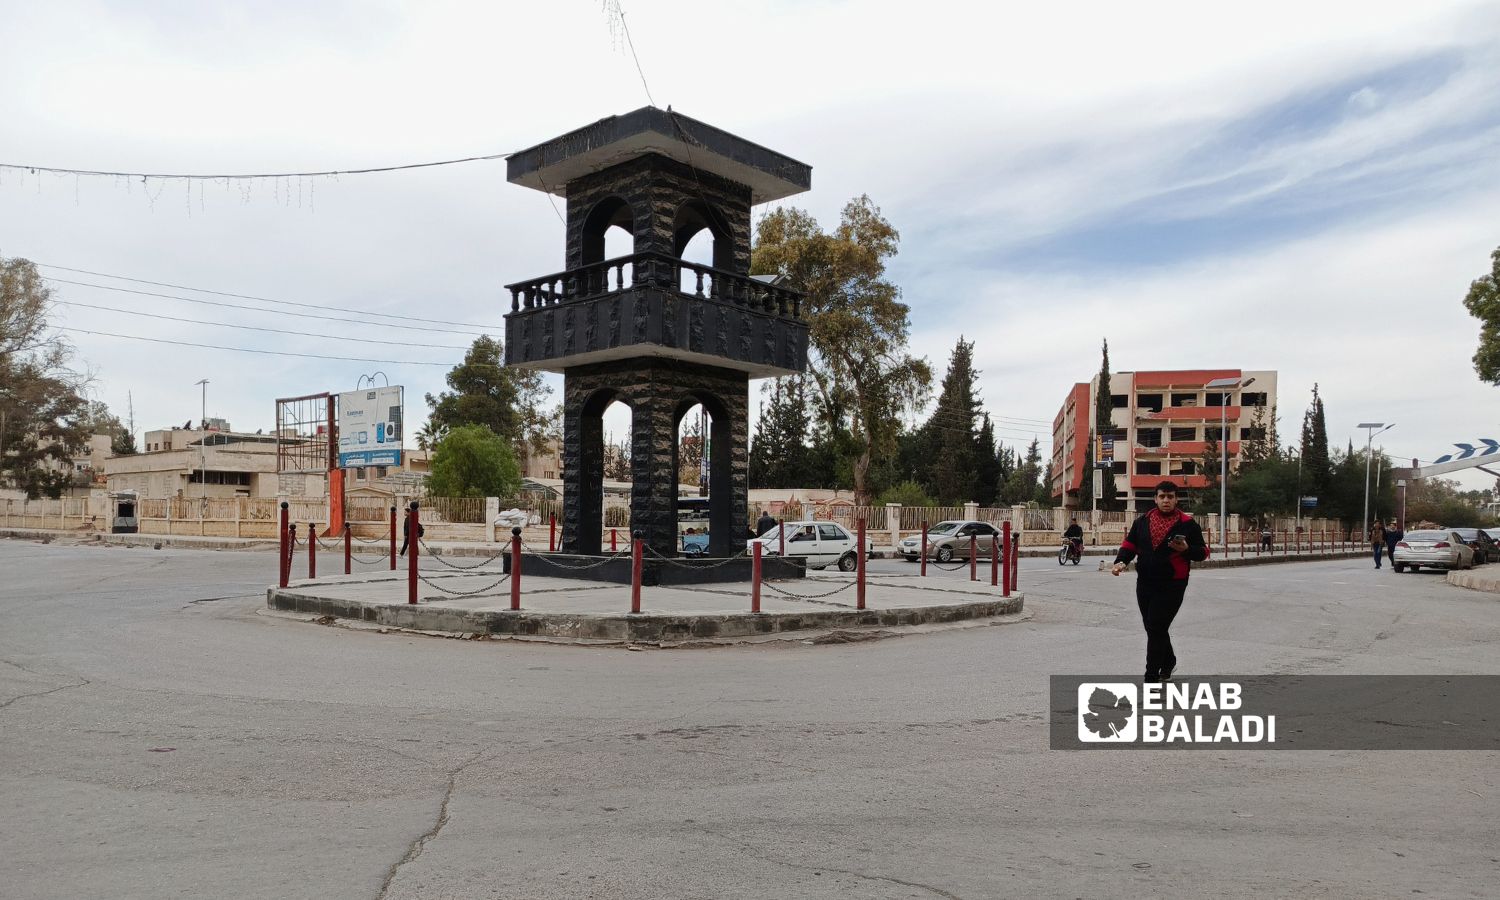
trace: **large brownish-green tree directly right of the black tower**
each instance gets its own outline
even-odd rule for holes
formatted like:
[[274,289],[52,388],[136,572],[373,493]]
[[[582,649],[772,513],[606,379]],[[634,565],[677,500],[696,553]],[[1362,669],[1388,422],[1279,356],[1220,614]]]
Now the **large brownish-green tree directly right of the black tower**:
[[910,310],[885,276],[898,242],[870,198],[858,196],[831,234],[804,210],[772,212],[756,228],[750,261],[754,274],[782,274],[806,294],[816,410],[849,464],[860,504],[870,502],[872,470],[897,450],[903,418],[932,384],[927,362],[908,351]]

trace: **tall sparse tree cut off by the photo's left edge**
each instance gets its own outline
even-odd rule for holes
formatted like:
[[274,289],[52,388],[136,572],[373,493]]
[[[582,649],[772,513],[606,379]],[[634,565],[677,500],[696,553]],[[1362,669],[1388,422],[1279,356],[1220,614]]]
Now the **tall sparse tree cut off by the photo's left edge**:
[[51,298],[36,266],[0,258],[0,483],[32,498],[62,496],[92,434],[86,378],[48,334]]

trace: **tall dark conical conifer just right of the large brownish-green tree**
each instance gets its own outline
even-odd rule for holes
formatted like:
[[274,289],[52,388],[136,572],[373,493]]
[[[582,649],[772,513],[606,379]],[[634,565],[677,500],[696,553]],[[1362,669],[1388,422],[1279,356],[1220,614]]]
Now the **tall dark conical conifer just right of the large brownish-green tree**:
[[[933,414],[922,426],[926,435],[926,477],[938,502],[960,504],[976,498],[980,482],[980,435],[975,423],[982,416],[975,382],[974,342],[958,338],[948,358],[948,374]],[[988,417],[984,417],[988,422]],[[992,429],[993,446],[993,429]]]

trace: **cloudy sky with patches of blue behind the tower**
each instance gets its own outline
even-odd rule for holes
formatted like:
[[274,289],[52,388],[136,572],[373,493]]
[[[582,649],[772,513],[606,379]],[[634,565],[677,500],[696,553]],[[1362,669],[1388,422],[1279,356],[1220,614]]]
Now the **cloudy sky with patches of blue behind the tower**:
[[[854,196],[880,207],[914,351],[940,376],[975,340],[1002,441],[1050,453],[1102,339],[1116,370],[1275,369],[1282,442],[1314,382],[1335,444],[1359,422],[1395,423],[1377,441],[1396,459],[1500,436],[1462,308],[1500,244],[1494,3],[0,9],[0,164],[384,166],[670,105],[810,164],[813,189],[780,202],[828,228]],[[561,201],[504,165],[234,183],[0,170],[0,256],[48,266],[56,324],[93,396],[134,405],[138,440],[196,418],[202,378],[208,416],[237,430],[270,429],[274,398],[376,372],[416,424],[462,348],[502,334],[502,285],[562,268]]]

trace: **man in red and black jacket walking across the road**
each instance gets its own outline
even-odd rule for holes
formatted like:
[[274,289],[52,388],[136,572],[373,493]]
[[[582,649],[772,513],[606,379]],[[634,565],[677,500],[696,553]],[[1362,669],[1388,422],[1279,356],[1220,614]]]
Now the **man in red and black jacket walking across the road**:
[[1178,668],[1167,630],[1182,609],[1188,570],[1208,558],[1203,528],[1178,508],[1178,486],[1156,484],[1156,508],[1131,524],[1110,568],[1118,576],[1136,561],[1136,604],[1146,626],[1146,681],[1167,681]]

